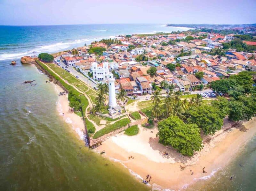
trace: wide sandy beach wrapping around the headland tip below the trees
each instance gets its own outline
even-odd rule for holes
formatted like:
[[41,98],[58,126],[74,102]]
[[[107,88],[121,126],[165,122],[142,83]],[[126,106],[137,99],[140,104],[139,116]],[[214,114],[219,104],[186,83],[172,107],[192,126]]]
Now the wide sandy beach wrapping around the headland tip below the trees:
[[[150,174],[152,176],[150,184],[154,188],[180,190],[197,180],[210,178],[227,165],[244,144],[255,135],[255,118],[245,122],[244,127],[247,130],[231,128],[231,123],[225,119],[222,130],[214,136],[203,137],[204,148],[196,152],[193,158],[183,157],[172,148],[158,143],[156,127],[147,129],[140,125],[138,135],[126,136],[120,133],[103,142],[95,151],[104,150],[103,156],[120,161],[142,179]],[[169,155],[163,155],[164,151]],[[129,156],[133,156],[134,159],[129,159]],[[180,165],[185,166],[185,169],[182,170]],[[207,173],[203,173],[204,167]],[[192,172],[194,172],[193,175],[191,175]]]

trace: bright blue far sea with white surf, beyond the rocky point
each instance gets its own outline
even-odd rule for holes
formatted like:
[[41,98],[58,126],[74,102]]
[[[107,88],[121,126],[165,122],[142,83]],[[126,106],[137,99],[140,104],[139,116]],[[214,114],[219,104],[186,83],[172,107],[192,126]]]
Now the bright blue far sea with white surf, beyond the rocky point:
[[0,26],[0,60],[59,52],[120,34],[182,31],[163,24]]

